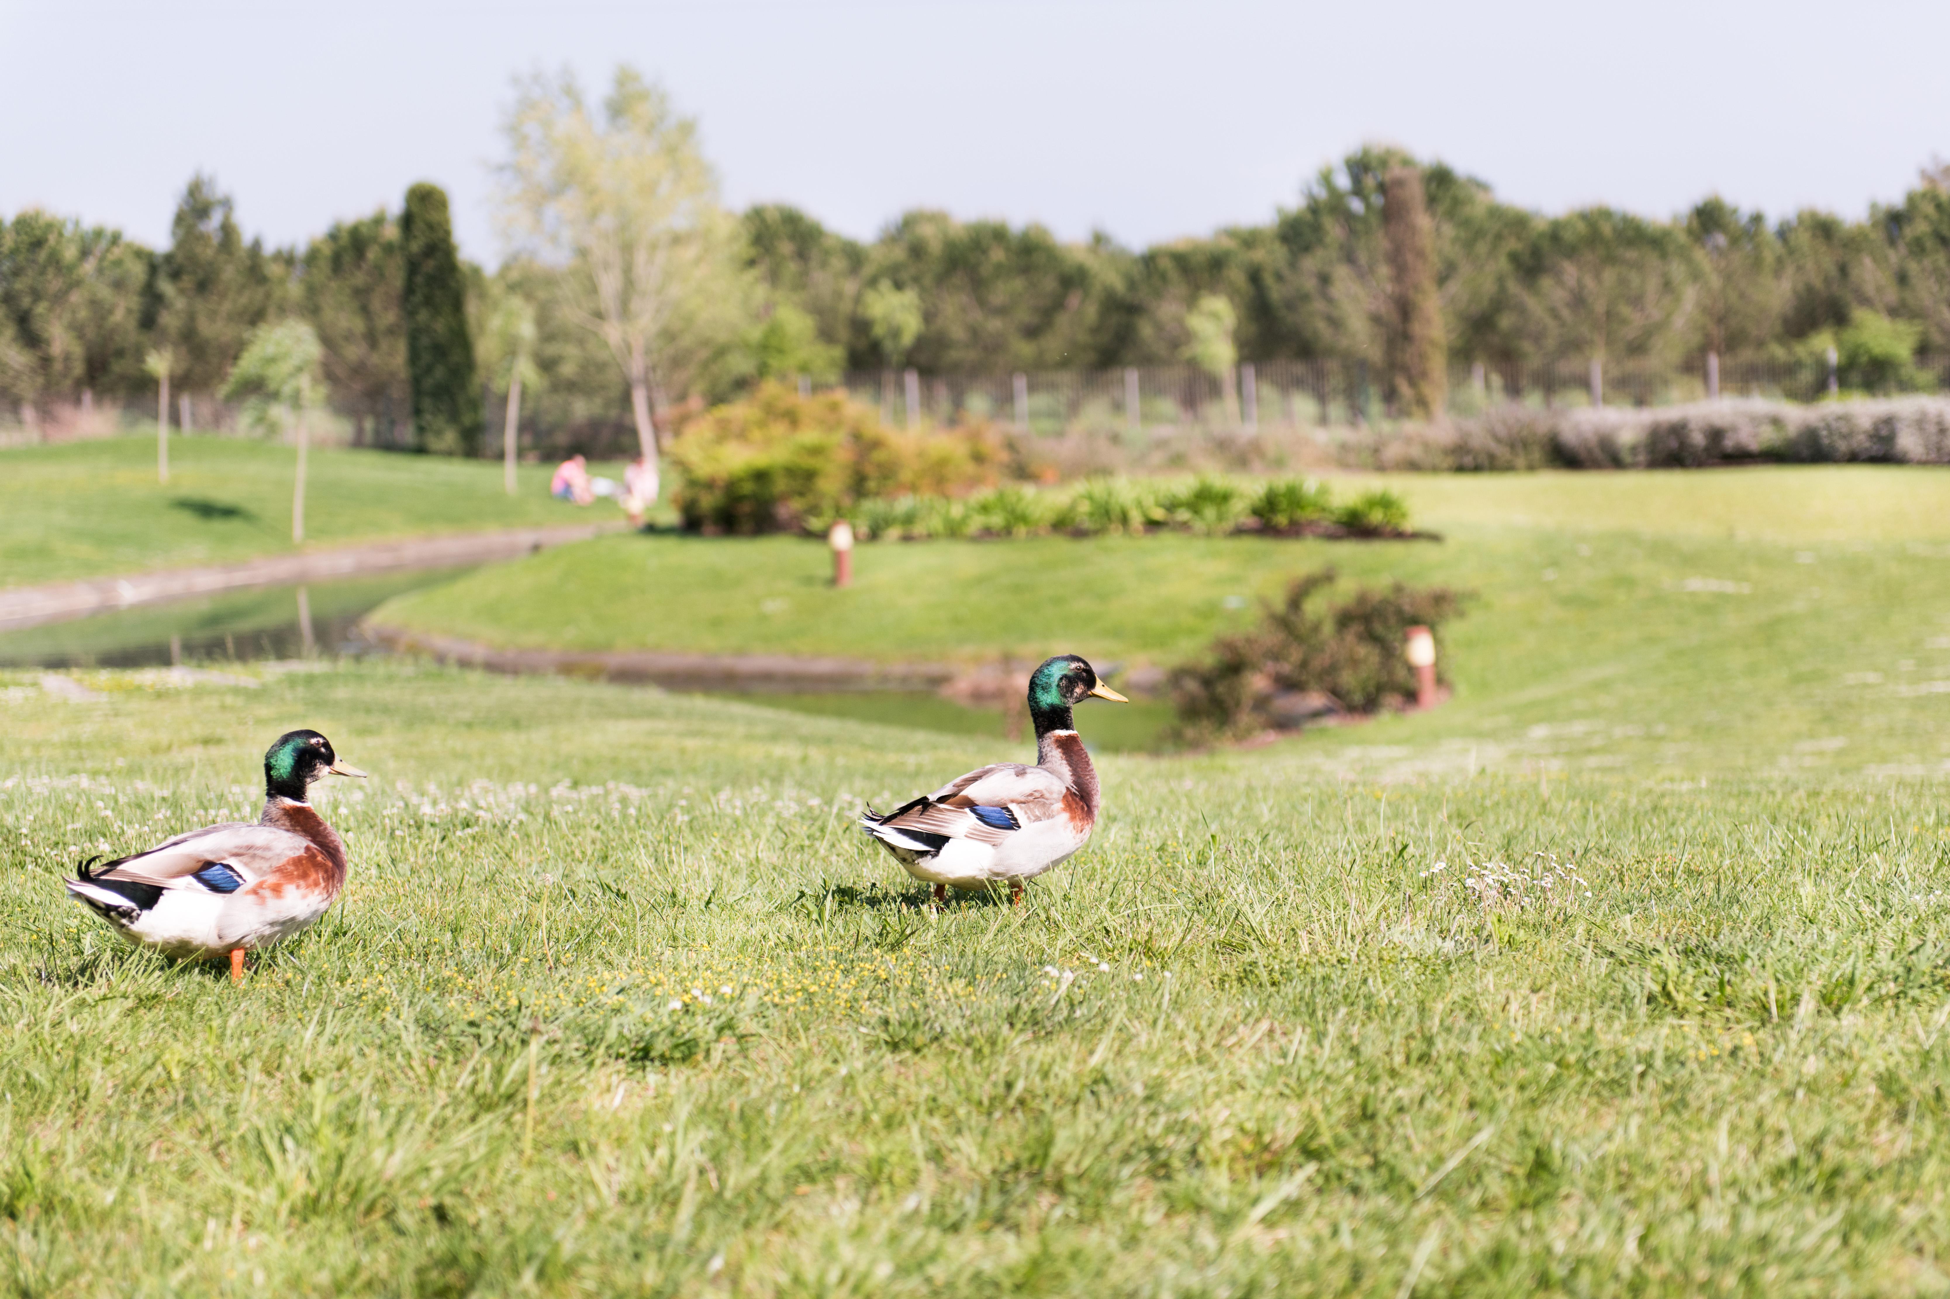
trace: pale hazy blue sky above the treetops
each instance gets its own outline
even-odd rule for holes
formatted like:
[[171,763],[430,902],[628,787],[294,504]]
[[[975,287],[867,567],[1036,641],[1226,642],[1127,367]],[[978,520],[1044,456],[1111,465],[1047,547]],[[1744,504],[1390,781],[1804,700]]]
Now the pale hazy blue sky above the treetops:
[[1291,207],[1388,142],[1539,211],[1708,193],[1860,216],[1950,156],[1950,4],[1513,0],[0,0],[0,215],[168,244],[195,172],[267,244],[431,179],[493,265],[515,78],[618,62],[698,119],[733,207],[1143,248]]

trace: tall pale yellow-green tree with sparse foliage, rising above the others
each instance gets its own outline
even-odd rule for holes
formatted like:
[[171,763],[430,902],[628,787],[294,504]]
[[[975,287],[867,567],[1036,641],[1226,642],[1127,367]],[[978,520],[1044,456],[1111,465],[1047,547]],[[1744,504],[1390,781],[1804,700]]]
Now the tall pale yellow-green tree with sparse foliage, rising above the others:
[[569,310],[622,369],[638,447],[653,464],[653,400],[684,392],[739,337],[749,298],[739,230],[696,135],[628,66],[616,68],[601,115],[562,74],[525,82],[507,121],[507,230],[569,269]]

